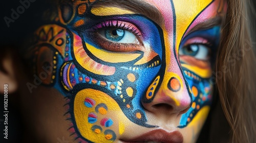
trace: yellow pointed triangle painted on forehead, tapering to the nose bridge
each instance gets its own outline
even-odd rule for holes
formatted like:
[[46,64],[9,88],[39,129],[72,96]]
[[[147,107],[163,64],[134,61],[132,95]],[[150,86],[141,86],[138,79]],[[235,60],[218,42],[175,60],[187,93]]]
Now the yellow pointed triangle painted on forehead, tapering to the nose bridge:
[[211,2],[212,0],[173,1],[176,14],[176,52],[178,52],[178,46],[180,44],[181,38],[189,27],[190,23]]

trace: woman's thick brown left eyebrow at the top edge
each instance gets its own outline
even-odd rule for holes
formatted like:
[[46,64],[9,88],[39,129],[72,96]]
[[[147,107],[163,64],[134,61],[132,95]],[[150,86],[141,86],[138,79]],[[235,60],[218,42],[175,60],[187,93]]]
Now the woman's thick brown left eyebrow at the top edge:
[[154,22],[156,22],[159,26],[163,25],[163,16],[160,13],[160,11],[143,1],[137,1],[137,0],[130,0],[130,1],[116,1],[116,0],[103,0],[98,1],[92,4],[92,7],[102,7],[102,6],[108,6],[108,7],[118,7],[121,9],[126,9],[133,11],[134,13],[142,14]]

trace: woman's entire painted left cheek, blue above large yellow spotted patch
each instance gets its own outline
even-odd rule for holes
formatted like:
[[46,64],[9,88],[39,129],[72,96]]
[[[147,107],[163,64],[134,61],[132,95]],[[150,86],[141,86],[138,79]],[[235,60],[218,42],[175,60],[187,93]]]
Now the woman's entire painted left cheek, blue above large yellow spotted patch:
[[69,130],[78,140],[113,142],[131,125],[154,127],[146,124],[140,99],[158,73],[159,55],[153,50],[136,58],[96,55],[96,48],[75,34],[73,41],[74,50],[66,48],[66,55],[74,59],[62,61],[60,80],[70,101]]

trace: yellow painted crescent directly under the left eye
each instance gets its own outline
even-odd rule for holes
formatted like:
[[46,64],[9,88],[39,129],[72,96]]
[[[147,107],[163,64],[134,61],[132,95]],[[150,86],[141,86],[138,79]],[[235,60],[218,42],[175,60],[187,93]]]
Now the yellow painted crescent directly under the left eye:
[[141,54],[134,53],[114,53],[108,52],[86,43],[87,49],[97,58],[102,61],[110,63],[121,63],[121,62],[130,62],[137,59]]

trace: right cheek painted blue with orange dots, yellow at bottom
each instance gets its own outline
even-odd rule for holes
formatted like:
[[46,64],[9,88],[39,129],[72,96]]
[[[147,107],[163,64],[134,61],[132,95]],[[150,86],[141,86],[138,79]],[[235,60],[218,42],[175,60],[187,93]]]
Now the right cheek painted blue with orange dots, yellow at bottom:
[[[180,125],[195,126],[200,122],[204,123],[208,115],[210,105],[212,103],[212,84],[210,82],[211,78],[202,78],[199,76],[199,73],[193,72],[195,70],[185,67],[182,68],[185,79],[187,80],[191,92],[193,93],[193,102],[189,110],[182,115]],[[209,70],[209,73],[211,72],[211,69],[207,70]]]

